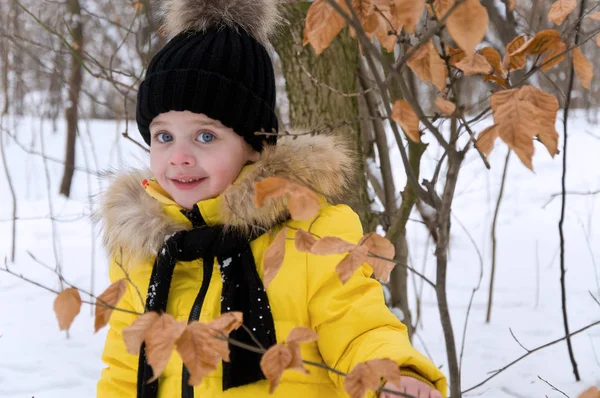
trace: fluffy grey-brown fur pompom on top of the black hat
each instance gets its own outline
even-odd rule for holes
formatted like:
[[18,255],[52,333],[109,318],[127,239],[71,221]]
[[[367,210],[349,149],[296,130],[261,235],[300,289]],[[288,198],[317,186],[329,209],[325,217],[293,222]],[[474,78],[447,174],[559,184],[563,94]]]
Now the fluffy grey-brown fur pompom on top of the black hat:
[[163,29],[169,36],[212,27],[241,28],[263,46],[281,21],[278,0],[163,0]]

